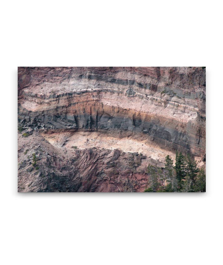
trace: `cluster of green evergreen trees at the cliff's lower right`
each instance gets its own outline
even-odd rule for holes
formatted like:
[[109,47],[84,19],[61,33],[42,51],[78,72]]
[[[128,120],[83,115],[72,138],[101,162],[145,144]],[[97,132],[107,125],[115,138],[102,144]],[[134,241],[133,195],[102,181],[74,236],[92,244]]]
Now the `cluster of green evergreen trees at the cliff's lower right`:
[[[206,176],[204,169],[199,169],[191,158],[176,153],[176,163],[169,155],[165,158],[164,172],[159,168],[148,165],[148,188],[144,192],[205,192]],[[160,183],[163,182],[163,185]]]

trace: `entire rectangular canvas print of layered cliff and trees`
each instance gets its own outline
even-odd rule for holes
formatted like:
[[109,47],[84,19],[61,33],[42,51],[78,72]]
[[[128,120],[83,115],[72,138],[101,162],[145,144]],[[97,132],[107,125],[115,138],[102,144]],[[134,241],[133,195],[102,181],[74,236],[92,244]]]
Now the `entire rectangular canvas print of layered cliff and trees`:
[[18,67],[19,192],[205,192],[205,67]]

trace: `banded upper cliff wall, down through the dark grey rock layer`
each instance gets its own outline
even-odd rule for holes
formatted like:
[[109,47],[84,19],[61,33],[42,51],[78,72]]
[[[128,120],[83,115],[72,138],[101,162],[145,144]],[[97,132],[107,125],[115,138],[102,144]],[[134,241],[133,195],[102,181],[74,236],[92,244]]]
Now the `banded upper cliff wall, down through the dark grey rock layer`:
[[129,135],[205,153],[203,67],[19,67],[23,127]]

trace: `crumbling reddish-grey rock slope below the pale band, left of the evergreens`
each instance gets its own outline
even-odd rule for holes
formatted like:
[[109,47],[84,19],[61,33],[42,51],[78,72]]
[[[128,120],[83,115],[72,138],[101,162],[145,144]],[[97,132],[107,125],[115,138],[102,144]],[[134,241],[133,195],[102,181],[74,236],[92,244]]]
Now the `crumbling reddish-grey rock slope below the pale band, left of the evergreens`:
[[38,132],[24,146],[18,150],[19,192],[142,192],[147,187],[150,159],[144,155],[117,149],[58,150]]

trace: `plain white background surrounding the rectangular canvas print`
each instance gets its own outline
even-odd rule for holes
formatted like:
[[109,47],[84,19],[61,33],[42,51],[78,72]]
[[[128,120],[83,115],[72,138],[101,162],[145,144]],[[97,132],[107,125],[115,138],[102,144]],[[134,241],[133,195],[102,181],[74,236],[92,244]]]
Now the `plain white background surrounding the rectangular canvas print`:
[[[1,3],[1,264],[222,262],[220,3]],[[17,193],[17,66],[206,66],[207,192]]]

